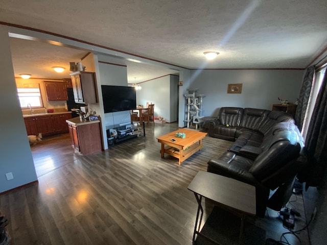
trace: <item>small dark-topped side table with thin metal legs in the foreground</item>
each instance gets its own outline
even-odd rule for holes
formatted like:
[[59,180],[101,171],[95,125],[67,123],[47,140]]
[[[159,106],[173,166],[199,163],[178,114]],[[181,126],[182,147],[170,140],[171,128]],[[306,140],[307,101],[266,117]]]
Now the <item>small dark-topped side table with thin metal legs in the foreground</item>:
[[[203,216],[202,197],[211,199],[217,202],[217,204],[221,204],[222,207],[231,208],[241,214],[240,244],[243,239],[244,219],[246,215],[255,215],[255,187],[232,178],[206,171],[199,171],[188,186],[188,189],[194,192],[198,202],[198,211],[192,239],[193,244],[195,244],[196,235],[220,244],[212,238],[205,236],[200,231]],[[201,215],[199,217],[200,210]]]

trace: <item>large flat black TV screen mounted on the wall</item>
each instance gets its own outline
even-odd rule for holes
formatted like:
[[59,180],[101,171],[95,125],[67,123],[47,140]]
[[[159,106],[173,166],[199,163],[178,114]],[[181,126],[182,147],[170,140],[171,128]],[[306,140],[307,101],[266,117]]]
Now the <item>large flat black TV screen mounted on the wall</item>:
[[134,87],[101,85],[104,113],[136,109]]

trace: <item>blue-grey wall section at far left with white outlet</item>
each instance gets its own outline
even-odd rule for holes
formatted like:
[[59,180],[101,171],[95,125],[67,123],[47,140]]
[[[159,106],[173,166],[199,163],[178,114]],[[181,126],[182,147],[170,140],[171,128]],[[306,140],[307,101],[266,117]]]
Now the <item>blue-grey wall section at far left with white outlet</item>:
[[[27,132],[18,102],[8,30],[0,26],[0,192],[37,180]],[[6,173],[14,179],[7,181]]]

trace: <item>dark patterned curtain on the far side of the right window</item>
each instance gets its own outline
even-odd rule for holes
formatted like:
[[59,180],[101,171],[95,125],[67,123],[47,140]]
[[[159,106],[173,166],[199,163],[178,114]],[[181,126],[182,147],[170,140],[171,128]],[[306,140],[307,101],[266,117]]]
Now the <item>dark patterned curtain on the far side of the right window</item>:
[[306,75],[303,78],[302,87],[298,98],[298,104],[295,112],[295,123],[300,131],[302,130],[303,120],[305,119],[314,74],[315,66],[313,65],[308,67]]

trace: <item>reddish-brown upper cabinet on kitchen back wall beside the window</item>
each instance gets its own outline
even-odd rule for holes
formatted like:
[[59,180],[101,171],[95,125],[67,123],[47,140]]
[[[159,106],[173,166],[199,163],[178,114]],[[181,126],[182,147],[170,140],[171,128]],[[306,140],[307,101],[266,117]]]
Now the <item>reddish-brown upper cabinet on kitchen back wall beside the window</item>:
[[44,81],[46,100],[48,101],[67,101],[67,85],[64,82]]

